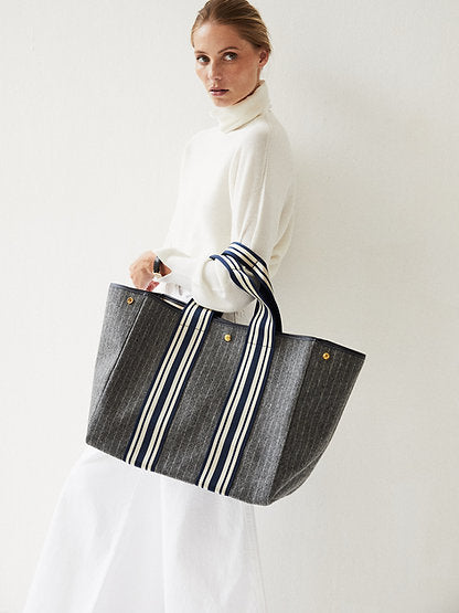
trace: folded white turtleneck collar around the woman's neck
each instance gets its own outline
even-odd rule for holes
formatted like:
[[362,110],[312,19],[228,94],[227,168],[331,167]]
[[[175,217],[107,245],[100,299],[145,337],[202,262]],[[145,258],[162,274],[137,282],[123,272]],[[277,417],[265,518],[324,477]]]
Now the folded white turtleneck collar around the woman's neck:
[[215,106],[210,114],[218,121],[220,129],[228,133],[248,124],[269,108],[268,86],[261,81],[255,92],[243,101],[230,106]]

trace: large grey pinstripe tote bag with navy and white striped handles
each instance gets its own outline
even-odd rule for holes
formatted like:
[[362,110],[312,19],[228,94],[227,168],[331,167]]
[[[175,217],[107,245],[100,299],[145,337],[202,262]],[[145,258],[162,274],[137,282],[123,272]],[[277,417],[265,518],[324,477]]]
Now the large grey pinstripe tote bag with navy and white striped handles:
[[365,356],[281,331],[265,262],[212,255],[256,299],[248,326],[111,284],[86,442],[140,469],[269,505],[309,476]]

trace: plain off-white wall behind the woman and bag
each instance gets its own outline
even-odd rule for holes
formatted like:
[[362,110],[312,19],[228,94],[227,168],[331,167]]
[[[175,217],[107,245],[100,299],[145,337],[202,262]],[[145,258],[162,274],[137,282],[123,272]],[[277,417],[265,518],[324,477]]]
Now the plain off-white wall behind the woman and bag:
[[[257,510],[270,613],[458,613],[459,2],[256,6],[299,171],[285,328],[367,353],[310,479]],[[82,448],[107,286],[212,123],[200,7],[0,0],[0,613]]]

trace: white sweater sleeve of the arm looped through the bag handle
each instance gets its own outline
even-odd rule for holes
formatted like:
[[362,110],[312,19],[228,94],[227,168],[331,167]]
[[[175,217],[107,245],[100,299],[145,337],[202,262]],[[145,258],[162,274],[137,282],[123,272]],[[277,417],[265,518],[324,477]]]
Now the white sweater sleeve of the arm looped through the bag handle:
[[[266,124],[250,130],[235,151],[228,175],[231,242],[238,241],[263,257],[271,277],[292,229],[291,155],[282,136],[276,138]],[[235,313],[253,302],[218,261],[193,257],[172,246],[153,251],[171,268],[161,281],[181,285],[199,304]]]

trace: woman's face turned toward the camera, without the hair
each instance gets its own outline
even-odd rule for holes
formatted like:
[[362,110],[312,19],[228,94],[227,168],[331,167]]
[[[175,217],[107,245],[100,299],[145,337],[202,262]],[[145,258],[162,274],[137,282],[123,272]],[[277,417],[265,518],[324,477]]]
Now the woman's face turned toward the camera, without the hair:
[[194,32],[193,46],[196,74],[216,106],[236,104],[252,94],[269,57],[231,25],[210,21]]

